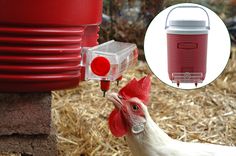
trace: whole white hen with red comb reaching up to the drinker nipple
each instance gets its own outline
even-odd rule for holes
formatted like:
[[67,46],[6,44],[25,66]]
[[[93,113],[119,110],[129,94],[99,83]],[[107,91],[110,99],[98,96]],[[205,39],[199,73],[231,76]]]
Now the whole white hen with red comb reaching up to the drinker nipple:
[[109,128],[117,137],[126,136],[134,156],[236,156],[236,147],[181,142],[170,138],[149,115],[146,102],[150,78],[132,80],[119,94],[108,99],[115,105]]

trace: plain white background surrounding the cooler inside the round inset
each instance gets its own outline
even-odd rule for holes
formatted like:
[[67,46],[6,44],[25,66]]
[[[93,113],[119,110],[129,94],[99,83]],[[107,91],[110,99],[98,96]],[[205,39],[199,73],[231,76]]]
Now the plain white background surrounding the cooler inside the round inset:
[[178,5],[198,5],[193,3],[181,3],[173,5],[159,13],[149,25],[145,40],[144,53],[152,72],[164,83],[180,89],[196,89],[213,82],[225,69],[231,49],[231,41],[228,30],[223,21],[210,9],[203,7],[210,17],[211,29],[208,33],[208,52],[206,78],[195,87],[194,83],[181,83],[177,87],[168,76],[167,67],[167,37],[165,30],[166,16],[170,9]]

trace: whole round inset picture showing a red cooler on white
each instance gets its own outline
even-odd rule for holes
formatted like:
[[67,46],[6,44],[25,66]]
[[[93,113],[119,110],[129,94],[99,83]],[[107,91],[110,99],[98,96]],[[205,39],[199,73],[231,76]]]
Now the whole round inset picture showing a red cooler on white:
[[164,83],[196,89],[213,82],[230,56],[230,36],[210,9],[181,3],[159,13],[148,27],[144,52],[152,72]]

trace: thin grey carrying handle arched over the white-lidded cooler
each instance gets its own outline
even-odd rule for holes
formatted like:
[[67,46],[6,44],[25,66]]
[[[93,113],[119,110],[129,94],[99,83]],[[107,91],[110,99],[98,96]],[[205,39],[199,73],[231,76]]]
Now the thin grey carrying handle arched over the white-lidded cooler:
[[169,27],[169,26],[167,25],[167,23],[168,23],[168,19],[169,19],[169,16],[170,16],[171,12],[174,11],[175,9],[179,9],[179,8],[197,8],[197,9],[202,9],[202,10],[206,13],[206,15],[207,15],[208,26],[206,26],[206,28],[207,28],[208,30],[210,30],[210,17],[209,17],[209,15],[208,15],[207,11],[206,11],[204,8],[202,8],[202,7],[200,7],[200,6],[196,6],[196,5],[182,5],[182,6],[176,6],[176,7],[172,8],[172,9],[169,11],[169,13],[167,14],[166,22],[165,22],[165,29],[167,29],[167,28]]

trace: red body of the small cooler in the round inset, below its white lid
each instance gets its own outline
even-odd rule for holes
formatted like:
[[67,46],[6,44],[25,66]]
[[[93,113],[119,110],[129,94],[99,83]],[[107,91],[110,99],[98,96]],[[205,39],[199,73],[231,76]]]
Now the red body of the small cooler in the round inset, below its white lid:
[[199,83],[205,79],[207,34],[168,34],[168,72],[175,83]]

